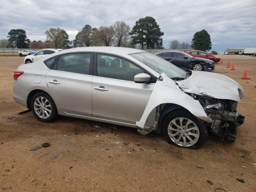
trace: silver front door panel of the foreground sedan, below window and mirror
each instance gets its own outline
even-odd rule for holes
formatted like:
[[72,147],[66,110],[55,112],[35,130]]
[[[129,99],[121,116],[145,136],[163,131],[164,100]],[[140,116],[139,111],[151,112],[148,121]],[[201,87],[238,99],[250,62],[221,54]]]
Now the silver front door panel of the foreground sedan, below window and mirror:
[[153,88],[154,84],[93,76],[92,117],[135,124],[140,120]]

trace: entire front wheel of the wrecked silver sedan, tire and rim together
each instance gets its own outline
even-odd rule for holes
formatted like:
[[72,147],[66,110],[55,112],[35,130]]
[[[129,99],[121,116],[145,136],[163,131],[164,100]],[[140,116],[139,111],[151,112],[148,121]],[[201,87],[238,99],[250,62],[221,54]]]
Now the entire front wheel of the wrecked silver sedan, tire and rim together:
[[[180,120],[185,126],[180,127]],[[164,116],[162,132],[168,143],[190,149],[200,148],[208,137],[208,131],[204,124],[190,112],[182,109],[169,112]]]

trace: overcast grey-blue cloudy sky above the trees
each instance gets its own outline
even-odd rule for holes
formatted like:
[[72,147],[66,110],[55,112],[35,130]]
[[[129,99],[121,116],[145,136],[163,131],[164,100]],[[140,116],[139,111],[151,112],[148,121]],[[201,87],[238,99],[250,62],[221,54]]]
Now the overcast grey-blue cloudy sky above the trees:
[[45,31],[60,27],[74,40],[86,24],[110,26],[122,20],[132,28],[152,16],[164,32],[163,44],[191,42],[205,29],[212,50],[256,47],[256,0],[0,0],[0,39],[11,29],[23,29],[33,40],[46,40]]

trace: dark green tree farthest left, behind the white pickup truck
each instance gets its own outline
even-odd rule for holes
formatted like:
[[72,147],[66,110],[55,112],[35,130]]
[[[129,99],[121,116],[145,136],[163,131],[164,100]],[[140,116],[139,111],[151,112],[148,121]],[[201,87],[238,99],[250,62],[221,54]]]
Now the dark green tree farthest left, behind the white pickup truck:
[[12,29],[8,32],[8,42],[12,48],[28,48],[30,40],[23,29]]

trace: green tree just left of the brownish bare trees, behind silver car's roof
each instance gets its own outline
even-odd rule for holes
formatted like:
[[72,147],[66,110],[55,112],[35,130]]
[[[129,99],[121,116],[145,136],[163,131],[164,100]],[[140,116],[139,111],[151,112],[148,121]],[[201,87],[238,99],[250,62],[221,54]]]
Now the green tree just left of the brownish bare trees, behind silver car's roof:
[[90,25],[84,26],[73,41],[75,47],[89,47],[92,45],[92,27]]

